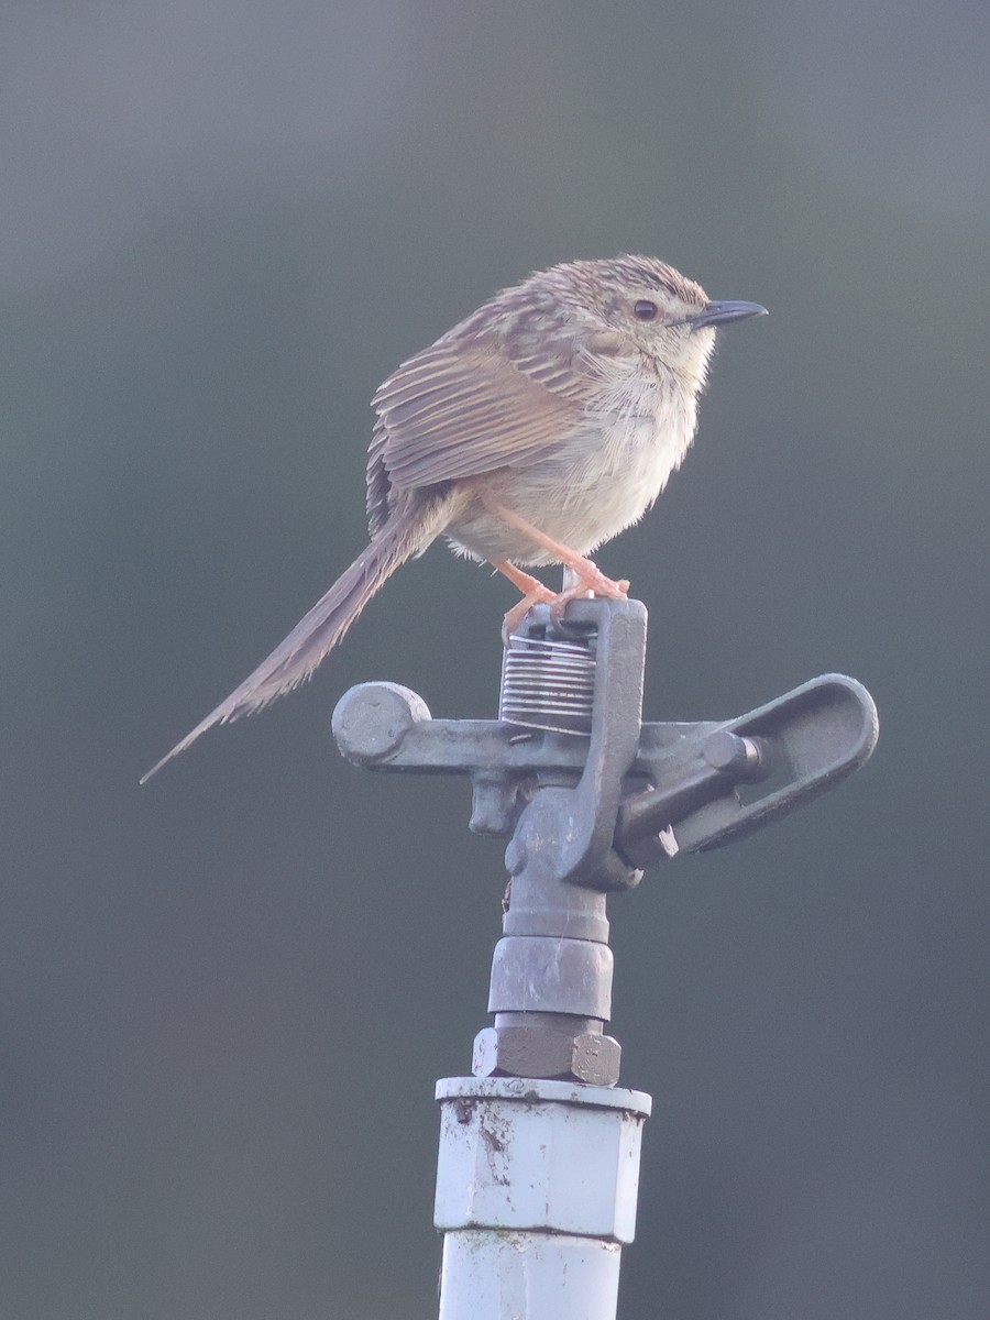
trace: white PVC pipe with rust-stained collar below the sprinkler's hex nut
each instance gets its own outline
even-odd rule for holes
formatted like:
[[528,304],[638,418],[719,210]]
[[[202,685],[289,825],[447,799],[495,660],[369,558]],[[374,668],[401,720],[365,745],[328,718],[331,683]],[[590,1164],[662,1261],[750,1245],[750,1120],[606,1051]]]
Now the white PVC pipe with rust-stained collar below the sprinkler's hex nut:
[[614,1320],[649,1096],[446,1077],[437,1100],[440,1320]]

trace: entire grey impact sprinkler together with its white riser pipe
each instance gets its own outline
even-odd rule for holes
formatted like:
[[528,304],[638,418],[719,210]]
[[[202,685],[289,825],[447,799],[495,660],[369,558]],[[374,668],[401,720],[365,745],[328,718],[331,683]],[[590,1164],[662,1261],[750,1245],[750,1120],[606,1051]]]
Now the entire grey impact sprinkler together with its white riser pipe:
[[632,1241],[649,1097],[616,1086],[606,896],[733,842],[857,770],[876,710],[825,675],[744,715],[643,723],[645,609],[573,601],[508,642],[500,719],[432,719],[396,684],[352,688],[333,730],[380,771],[465,774],[471,829],[508,836],[491,1026],[438,1082],[441,1320],[609,1320]]

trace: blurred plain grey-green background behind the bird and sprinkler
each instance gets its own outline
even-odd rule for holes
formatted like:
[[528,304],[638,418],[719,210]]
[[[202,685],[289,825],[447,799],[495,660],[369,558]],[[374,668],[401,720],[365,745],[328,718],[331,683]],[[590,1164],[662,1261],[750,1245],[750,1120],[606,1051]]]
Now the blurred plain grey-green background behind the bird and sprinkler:
[[3,1315],[436,1315],[502,849],[326,726],[374,677],[491,714],[511,589],[434,548],[137,776],[364,545],[378,381],[640,251],[772,313],[601,554],[647,715],[841,669],[882,735],[611,903],[656,1097],[622,1315],[982,1320],[986,5],[13,0],[0,37]]

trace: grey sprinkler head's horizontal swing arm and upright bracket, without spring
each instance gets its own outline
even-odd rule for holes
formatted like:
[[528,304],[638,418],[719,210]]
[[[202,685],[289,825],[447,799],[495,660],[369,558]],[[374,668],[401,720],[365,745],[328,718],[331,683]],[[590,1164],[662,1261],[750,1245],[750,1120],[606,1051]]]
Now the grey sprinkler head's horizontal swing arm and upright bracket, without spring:
[[[560,869],[577,873],[594,869],[612,847],[628,867],[644,867],[734,842],[833,788],[876,743],[873,698],[837,673],[734,719],[640,723],[645,609],[639,601],[574,601],[560,623],[537,606],[517,639],[543,642],[548,634],[583,635],[594,647],[598,714],[590,739],[498,719],[433,719],[408,688],[367,682],[351,688],[334,711],[342,755],[367,770],[470,776],[470,829],[479,834],[511,834],[533,807],[541,825],[560,813],[568,837]],[[576,780],[561,789],[566,800],[548,799],[549,787],[540,792],[541,780],[558,785],[561,776]],[[766,791],[741,792],[760,783]],[[569,829],[578,816],[579,846]]]

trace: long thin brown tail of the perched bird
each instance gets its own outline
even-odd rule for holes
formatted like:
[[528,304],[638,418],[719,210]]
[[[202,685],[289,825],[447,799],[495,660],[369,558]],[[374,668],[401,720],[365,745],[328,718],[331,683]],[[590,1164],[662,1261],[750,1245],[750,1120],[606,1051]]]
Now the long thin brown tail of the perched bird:
[[253,673],[235,688],[226,701],[201,719],[182,742],[141,776],[145,784],[173,756],[191,746],[214,725],[226,725],[261,710],[284,692],[310,677],[323,656],[343,638],[360,611],[411,556],[426,549],[438,535],[438,519],[420,506],[396,510],[371,545],[341,574],[326,595],[300,619],[292,632],[263,660]]

